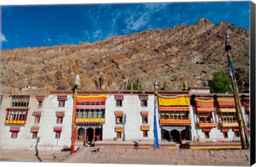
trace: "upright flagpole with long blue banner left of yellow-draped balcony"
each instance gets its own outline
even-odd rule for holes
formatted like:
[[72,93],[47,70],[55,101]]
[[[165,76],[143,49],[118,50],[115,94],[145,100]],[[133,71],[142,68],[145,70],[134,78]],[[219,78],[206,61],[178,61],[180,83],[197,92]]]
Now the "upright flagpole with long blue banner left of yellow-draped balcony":
[[158,135],[157,135],[157,120],[156,120],[156,107],[157,107],[157,94],[158,94],[158,85],[157,82],[154,82],[154,97],[155,97],[155,110],[154,110],[154,140],[155,140],[155,148],[159,148],[158,145]]

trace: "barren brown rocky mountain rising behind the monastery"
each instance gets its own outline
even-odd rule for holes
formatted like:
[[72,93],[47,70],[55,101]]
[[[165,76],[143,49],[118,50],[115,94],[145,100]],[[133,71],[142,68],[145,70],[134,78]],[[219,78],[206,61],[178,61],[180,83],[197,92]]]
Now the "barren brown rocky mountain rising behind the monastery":
[[[45,94],[67,90],[79,74],[82,90],[124,90],[140,78],[145,90],[166,81],[169,90],[181,90],[183,81],[202,86],[214,71],[228,73],[226,33],[231,38],[238,85],[249,82],[249,36],[244,28],[227,22],[199,19],[192,25],[146,30],[94,43],[2,50],[2,93]],[[25,91],[25,90],[22,90]]]

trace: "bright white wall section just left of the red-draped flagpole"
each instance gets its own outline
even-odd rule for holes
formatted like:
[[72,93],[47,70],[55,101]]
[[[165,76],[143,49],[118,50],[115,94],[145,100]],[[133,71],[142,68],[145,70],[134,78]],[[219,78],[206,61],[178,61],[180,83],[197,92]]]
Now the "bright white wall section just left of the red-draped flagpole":
[[[44,99],[43,112],[40,120],[40,129],[38,132],[38,149],[52,149],[52,146],[70,146],[71,145],[71,124],[73,113],[73,98],[67,96],[65,107],[59,107],[57,95],[49,95]],[[64,111],[62,123],[57,123],[56,112]],[[60,138],[55,138],[54,128],[62,128]]]

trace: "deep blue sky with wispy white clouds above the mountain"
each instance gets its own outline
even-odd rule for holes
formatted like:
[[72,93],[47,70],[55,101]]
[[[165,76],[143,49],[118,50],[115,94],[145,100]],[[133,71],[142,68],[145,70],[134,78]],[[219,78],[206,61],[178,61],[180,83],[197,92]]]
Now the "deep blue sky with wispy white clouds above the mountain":
[[249,30],[250,2],[2,6],[2,49],[93,42],[199,18]]

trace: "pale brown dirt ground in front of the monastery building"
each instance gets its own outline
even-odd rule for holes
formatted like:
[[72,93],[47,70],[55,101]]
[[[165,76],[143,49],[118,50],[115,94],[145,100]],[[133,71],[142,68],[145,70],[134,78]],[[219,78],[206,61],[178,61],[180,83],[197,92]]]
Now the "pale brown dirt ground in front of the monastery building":
[[122,147],[81,147],[72,155],[62,152],[10,151],[1,149],[3,162],[60,162],[94,164],[250,166],[250,151],[190,150]]

